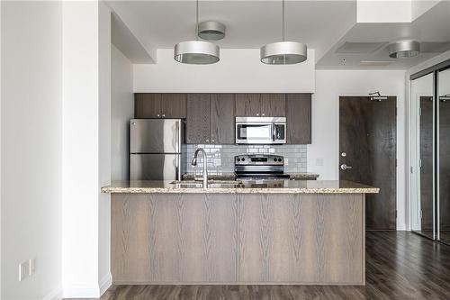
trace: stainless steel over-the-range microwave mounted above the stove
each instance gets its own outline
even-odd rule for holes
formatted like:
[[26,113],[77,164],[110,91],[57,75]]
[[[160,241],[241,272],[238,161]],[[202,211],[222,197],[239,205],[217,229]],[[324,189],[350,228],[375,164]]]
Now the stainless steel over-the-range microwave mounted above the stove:
[[285,144],[285,117],[236,117],[237,144]]

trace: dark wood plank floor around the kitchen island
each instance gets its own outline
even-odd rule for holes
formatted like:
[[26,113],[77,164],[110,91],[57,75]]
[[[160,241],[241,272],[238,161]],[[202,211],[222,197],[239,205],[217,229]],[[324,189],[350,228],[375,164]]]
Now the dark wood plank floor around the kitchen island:
[[112,286],[102,299],[450,299],[450,247],[367,232],[366,286]]

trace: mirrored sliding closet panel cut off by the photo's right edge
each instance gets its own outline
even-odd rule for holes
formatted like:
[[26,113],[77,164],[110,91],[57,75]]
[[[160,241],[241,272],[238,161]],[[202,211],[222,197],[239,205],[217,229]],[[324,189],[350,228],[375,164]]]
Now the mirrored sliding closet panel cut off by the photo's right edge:
[[438,72],[439,112],[439,235],[450,243],[450,68]]

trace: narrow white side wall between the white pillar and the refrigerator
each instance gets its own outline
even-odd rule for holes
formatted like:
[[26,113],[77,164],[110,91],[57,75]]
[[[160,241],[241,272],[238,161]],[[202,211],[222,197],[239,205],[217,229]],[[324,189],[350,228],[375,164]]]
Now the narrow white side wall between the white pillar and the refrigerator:
[[129,123],[134,116],[133,65],[120,50],[111,50],[111,179],[129,178]]

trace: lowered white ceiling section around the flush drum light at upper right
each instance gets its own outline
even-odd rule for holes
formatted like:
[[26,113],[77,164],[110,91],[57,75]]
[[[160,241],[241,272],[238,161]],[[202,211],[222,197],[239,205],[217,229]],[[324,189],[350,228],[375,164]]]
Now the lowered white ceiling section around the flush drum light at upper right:
[[[420,41],[419,56],[389,58],[389,43],[401,40]],[[356,23],[317,62],[316,68],[407,69],[446,50],[450,50],[450,1],[439,3],[412,23]]]

